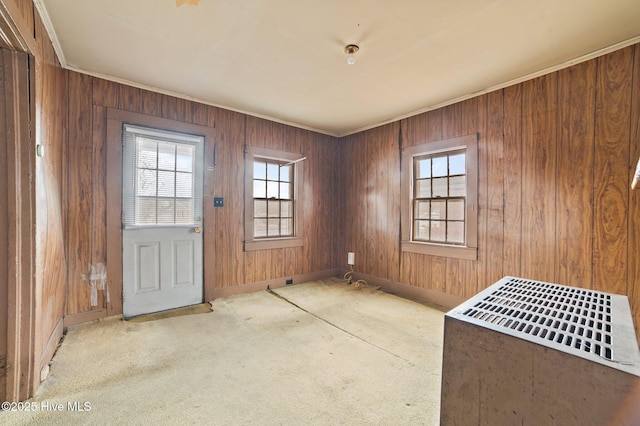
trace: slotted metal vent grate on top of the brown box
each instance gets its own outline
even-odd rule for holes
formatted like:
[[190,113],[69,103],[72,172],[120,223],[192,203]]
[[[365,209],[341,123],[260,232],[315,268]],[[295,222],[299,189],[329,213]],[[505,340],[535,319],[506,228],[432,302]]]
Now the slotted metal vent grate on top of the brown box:
[[607,293],[510,277],[463,316],[613,360]]

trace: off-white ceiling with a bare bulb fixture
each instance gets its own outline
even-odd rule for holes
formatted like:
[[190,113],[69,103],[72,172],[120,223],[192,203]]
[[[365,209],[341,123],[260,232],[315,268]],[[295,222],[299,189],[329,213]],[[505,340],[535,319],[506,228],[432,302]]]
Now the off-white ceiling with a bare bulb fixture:
[[334,136],[640,41],[639,0],[184,1],[35,3],[65,68]]

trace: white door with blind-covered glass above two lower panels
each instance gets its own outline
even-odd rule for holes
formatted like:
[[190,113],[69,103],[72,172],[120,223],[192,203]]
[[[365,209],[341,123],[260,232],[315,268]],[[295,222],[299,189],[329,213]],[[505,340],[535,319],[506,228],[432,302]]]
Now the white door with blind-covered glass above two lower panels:
[[202,303],[204,139],[125,125],[123,315]]

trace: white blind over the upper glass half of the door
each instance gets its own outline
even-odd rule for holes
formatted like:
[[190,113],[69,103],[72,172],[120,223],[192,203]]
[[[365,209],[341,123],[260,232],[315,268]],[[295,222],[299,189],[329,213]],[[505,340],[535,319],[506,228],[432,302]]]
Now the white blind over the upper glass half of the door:
[[199,225],[204,138],[129,124],[123,135],[124,227]]

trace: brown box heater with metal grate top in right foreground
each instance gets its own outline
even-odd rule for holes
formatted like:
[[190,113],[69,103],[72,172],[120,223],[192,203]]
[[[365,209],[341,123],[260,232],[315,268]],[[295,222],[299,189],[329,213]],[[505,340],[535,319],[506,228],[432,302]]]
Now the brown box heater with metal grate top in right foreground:
[[631,418],[640,351],[627,297],[501,279],[445,315],[441,395],[443,425]]

